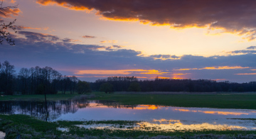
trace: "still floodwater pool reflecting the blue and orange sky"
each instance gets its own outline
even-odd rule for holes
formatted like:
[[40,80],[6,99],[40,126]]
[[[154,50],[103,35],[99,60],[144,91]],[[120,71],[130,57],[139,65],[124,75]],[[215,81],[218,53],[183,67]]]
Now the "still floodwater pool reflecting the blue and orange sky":
[[[47,121],[139,121],[133,130],[256,130],[256,110],[120,105],[110,101],[0,101],[2,114],[26,114]],[[244,118],[244,119],[242,119]],[[86,122],[85,122],[86,123]],[[84,128],[120,129],[113,124],[84,124]],[[66,130],[66,129],[63,129]]]

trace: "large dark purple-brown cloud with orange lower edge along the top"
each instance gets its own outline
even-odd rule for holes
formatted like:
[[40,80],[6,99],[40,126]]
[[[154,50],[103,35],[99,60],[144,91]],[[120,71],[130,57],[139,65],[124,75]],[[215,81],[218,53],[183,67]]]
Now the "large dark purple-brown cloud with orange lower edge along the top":
[[69,9],[95,9],[110,20],[139,20],[142,23],[169,24],[172,28],[190,26],[222,28],[224,32],[256,35],[254,0],[38,0],[39,4],[59,4]]

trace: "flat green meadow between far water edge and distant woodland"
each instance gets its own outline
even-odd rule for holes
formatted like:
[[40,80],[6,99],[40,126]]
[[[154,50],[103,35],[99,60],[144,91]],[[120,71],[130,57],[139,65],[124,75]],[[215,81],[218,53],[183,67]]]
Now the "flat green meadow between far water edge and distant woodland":
[[256,94],[103,94],[95,92],[97,100],[120,104],[148,104],[219,109],[256,109]]

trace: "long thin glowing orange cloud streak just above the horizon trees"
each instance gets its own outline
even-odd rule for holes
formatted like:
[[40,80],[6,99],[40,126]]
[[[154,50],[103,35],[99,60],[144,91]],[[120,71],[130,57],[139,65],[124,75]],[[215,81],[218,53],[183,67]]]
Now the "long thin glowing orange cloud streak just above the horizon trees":
[[79,70],[75,74],[163,74],[167,72],[160,72],[159,70]]

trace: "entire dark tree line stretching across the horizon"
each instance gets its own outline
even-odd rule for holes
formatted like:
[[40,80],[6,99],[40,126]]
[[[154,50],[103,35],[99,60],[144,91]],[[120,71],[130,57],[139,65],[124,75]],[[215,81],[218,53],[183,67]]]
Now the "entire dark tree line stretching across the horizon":
[[0,94],[83,94],[91,91],[256,91],[256,82],[216,82],[210,79],[159,79],[139,80],[137,77],[107,77],[95,82],[80,81],[66,76],[51,67],[21,68],[18,72],[10,62],[0,62]]

